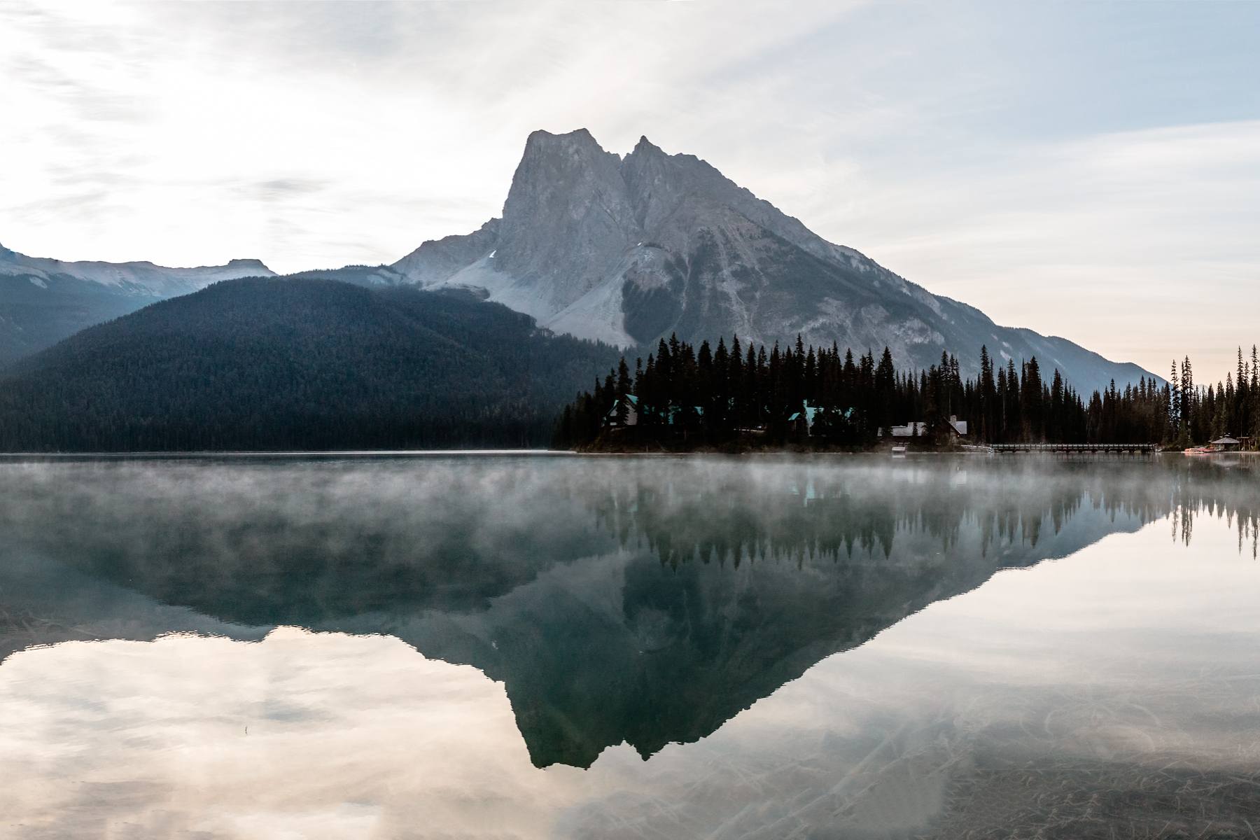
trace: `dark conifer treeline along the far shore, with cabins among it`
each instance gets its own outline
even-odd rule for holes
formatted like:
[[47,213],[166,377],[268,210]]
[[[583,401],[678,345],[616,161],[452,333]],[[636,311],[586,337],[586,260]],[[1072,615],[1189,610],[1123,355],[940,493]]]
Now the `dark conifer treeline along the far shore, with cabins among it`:
[[[924,437],[951,434],[950,418],[968,422],[966,440],[982,443],[1188,443],[1234,432],[1250,433],[1260,419],[1260,365],[1246,364],[1218,387],[1198,388],[1189,361],[1171,383],[1142,378],[1115,383],[1089,398],[1036,358],[994,360],[980,348],[979,375],[964,378],[954,355],[926,370],[897,370],[885,348],[878,358],[854,358],[830,348],[775,344],[743,348],[732,338],[712,348],[662,340],[646,361],[625,358],[577,395],[557,421],[553,446],[590,446],[601,434],[635,443],[721,445],[741,438],[784,445],[810,440],[863,447],[879,429],[914,422]],[[1239,383],[1242,383],[1241,385]],[[630,398],[633,395],[633,399]],[[795,419],[794,419],[795,418]],[[633,428],[627,423],[634,421]],[[612,429],[616,429],[612,432]]]

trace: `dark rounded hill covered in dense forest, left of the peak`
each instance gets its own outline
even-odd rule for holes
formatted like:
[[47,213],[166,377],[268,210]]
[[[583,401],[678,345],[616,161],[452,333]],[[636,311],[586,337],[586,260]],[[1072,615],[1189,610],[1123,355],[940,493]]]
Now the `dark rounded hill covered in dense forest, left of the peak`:
[[541,446],[617,355],[470,297],[229,280],[5,372],[0,450]]

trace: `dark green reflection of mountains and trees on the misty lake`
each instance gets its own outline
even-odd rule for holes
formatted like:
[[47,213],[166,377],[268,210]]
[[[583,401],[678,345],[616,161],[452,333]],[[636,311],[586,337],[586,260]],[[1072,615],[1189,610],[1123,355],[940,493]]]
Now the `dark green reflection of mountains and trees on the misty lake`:
[[1188,544],[1194,516],[1227,518],[1255,557],[1255,476],[1241,457],[6,462],[21,563],[0,632],[4,651],[388,633],[504,681],[536,764],[586,767],[703,738],[927,604],[1114,531],[1168,516]]

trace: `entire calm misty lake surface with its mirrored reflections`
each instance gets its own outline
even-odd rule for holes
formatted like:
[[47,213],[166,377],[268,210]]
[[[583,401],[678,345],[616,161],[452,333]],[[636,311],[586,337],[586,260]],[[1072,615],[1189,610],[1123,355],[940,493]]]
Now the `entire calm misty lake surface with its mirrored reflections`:
[[3,837],[1256,837],[1260,460],[0,461]]

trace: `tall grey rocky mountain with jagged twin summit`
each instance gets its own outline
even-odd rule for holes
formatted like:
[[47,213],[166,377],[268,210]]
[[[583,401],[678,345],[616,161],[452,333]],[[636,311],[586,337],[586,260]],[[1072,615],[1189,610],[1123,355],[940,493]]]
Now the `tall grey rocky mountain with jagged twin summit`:
[[425,242],[379,282],[476,290],[539,325],[622,348],[677,332],[854,351],[890,346],[898,366],[941,351],[975,374],[995,359],[1037,356],[1079,389],[1153,374],[1066,339],[998,326],[862,253],[827,242],[692,155],[641,139],[625,157],[585,128],[533,132],[503,217],[467,236]]

